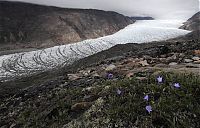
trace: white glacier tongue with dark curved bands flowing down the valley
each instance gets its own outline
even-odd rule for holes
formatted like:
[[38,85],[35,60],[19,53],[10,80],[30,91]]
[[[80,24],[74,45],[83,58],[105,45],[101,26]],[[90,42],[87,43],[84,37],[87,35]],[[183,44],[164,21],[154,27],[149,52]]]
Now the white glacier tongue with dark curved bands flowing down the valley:
[[0,81],[69,65],[117,44],[161,41],[185,35],[190,31],[178,29],[183,22],[179,20],[139,21],[113,35],[43,50],[0,56]]

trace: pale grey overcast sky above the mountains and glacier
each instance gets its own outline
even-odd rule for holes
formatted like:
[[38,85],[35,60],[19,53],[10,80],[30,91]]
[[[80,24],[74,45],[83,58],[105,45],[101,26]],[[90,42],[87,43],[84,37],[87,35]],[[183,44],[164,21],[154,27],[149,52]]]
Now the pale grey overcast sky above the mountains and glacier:
[[[9,0],[11,1],[11,0]],[[188,19],[199,11],[199,0],[14,0],[66,8],[116,11],[127,16]]]

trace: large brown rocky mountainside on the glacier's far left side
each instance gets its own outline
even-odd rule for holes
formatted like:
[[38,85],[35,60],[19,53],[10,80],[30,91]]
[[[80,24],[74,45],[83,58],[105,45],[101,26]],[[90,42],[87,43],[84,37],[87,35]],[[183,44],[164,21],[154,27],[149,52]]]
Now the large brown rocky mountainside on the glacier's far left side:
[[44,48],[73,43],[113,34],[133,22],[116,12],[1,1],[0,48]]

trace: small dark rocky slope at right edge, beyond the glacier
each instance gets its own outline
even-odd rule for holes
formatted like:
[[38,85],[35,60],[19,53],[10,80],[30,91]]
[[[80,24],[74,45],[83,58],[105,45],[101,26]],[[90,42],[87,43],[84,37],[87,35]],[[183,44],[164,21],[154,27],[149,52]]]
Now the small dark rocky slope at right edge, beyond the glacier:
[[200,12],[188,19],[181,28],[191,31],[200,31]]

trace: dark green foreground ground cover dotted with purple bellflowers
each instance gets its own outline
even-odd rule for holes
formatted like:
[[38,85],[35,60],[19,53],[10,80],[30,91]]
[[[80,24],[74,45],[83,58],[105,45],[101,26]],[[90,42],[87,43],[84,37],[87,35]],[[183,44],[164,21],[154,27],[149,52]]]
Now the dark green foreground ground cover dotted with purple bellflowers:
[[194,74],[141,72],[129,79],[66,83],[7,99],[0,126],[200,127],[200,77]]

